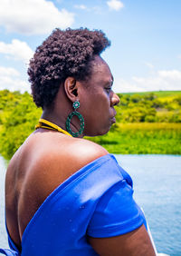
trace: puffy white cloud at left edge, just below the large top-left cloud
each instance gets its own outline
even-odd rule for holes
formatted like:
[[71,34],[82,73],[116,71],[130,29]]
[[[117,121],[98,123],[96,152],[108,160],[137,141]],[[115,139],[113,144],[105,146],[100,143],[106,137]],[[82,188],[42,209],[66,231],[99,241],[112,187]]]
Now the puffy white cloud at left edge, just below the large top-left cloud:
[[33,50],[25,42],[13,39],[11,44],[0,42],[0,54],[11,56],[15,60],[28,64],[30,58],[33,57]]

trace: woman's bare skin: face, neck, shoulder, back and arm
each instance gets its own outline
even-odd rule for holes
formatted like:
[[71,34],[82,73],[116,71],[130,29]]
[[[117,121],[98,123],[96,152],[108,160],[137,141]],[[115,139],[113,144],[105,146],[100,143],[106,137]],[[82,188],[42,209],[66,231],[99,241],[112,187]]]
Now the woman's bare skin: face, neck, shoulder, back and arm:
[[[79,100],[78,111],[85,121],[81,137],[108,133],[115,123],[114,106],[119,103],[118,95],[111,89],[112,82],[108,64],[96,56],[90,79],[76,81],[68,77],[61,84],[54,105],[43,110],[42,118],[65,130],[72,103]],[[77,132],[79,126],[79,121],[73,119],[71,130]],[[20,250],[24,230],[47,196],[72,173],[106,154],[108,152],[96,143],[42,128],[26,139],[14,154],[5,180],[7,229]],[[155,255],[144,226],[117,237],[88,237],[88,241],[100,255]]]

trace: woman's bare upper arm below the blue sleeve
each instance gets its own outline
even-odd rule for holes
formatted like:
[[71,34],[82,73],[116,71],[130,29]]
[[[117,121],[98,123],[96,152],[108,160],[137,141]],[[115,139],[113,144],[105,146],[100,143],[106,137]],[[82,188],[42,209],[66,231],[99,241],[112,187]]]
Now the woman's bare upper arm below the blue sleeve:
[[109,238],[89,236],[90,245],[102,256],[155,256],[152,243],[145,226],[135,231]]

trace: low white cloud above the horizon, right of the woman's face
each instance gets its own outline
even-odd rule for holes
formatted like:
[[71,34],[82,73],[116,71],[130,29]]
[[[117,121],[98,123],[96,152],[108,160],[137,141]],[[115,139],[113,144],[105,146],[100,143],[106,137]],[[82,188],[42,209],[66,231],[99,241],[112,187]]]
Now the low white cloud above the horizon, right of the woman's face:
[[161,70],[148,77],[133,76],[130,80],[118,78],[113,88],[116,93],[180,91],[181,71]]

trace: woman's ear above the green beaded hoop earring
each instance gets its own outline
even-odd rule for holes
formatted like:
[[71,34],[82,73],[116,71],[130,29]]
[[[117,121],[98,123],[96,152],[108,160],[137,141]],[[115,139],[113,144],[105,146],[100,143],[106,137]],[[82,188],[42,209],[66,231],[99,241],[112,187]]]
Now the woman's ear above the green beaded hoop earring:
[[78,98],[78,88],[76,79],[73,77],[67,77],[64,82],[65,94],[71,100],[71,102],[75,102]]

